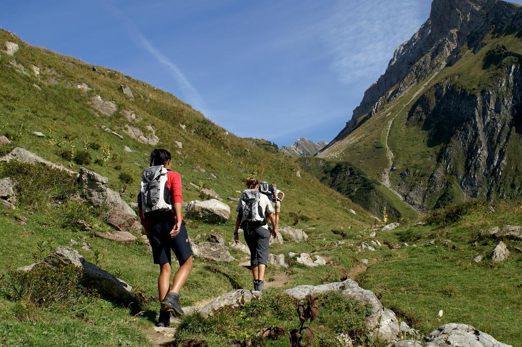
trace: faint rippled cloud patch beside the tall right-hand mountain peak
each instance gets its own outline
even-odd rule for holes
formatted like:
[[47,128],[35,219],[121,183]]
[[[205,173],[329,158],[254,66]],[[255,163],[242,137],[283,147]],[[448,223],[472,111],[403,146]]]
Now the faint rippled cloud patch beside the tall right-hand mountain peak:
[[375,81],[396,47],[422,25],[427,1],[339,1],[326,41],[340,82]]

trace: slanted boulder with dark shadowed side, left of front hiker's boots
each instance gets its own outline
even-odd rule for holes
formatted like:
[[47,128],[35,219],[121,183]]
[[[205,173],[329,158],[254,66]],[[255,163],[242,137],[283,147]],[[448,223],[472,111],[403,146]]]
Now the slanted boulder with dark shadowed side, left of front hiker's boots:
[[49,266],[58,267],[63,265],[72,265],[81,268],[83,271],[83,280],[90,288],[94,288],[106,297],[121,302],[134,301],[132,287],[124,281],[114,277],[109,272],[91,264],[82,257],[77,250],[61,246],[56,251],[45,257],[42,261],[35,264],[19,268],[19,271],[30,271],[36,267]]

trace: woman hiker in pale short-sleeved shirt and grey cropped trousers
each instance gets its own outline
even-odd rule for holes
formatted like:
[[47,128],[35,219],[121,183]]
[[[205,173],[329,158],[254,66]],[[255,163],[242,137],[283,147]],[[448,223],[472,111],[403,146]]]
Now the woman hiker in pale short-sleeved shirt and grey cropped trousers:
[[272,223],[272,236],[277,237],[274,207],[265,194],[259,192],[259,183],[255,178],[247,177],[246,187],[238,202],[238,218],[235,221],[234,241],[239,242],[239,227],[243,229],[245,241],[250,249],[250,266],[254,277],[254,290],[263,291],[265,269],[268,262],[267,218]]

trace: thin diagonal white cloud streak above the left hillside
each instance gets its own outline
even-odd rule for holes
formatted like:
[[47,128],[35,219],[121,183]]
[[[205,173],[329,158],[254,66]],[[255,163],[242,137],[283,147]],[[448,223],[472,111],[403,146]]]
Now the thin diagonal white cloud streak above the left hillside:
[[145,37],[145,35],[139,30],[139,28],[135,25],[135,23],[128,17],[126,17],[123,12],[114,6],[110,2],[102,2],[102,5],[109,9],[114,16],[120,19],[127,31],[129,37],[141,48],[145,49],[149,52],[156,60],[167,67],[169,73],[174,77],[179,86],[182,94],[183,100],[189,104],[191,104],[194,109],[200,111],[205,114],[207,117],[210,117],[210,114],[206,110],[205,102],[201,97],[201,94],[194,88],[191,82],[185,77],[182,71],[177,67],[176,64],[172,62],[167,56],[158,51],[155,46],[152,45],[149,39]]

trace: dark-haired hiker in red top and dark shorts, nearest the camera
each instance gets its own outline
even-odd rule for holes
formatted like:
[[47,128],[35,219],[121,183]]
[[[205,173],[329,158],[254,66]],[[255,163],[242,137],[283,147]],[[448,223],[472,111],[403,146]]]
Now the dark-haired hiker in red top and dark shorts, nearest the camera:
[[[160,267],[158,296],[161,302],[159,327],[167,327],[170,316],[184,314],[180,290],[192,270],[192,249],[181,214],[181,175],[170,169],[171,154],[165,149],[150,153],[150,167],[141,176],[138,194],[139,218],[143,224],[154,264]],[[171,249],[180,264],[172,280]]]

